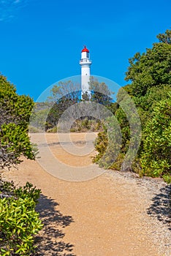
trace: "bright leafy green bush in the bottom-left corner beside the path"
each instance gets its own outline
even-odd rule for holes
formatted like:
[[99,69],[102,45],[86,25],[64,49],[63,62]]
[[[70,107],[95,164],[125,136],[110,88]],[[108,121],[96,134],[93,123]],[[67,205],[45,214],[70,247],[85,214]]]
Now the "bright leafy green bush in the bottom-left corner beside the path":
[[26,183],[0,181],[0,252],[6,255],[30,255],[34,252],[34,236],[42,229],[35,211],[40,190]]

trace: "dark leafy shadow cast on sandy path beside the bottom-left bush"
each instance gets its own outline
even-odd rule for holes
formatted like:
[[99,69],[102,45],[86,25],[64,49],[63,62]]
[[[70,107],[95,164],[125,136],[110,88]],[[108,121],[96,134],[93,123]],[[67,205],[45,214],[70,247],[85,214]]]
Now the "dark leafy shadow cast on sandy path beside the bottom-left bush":
[[75,256],[72,254],[72,244],[64,242],[64,227],[74,220],[64,216],[56,209],[59,206],[53,199],[41,195],[37,205],[39,217],[44,225],[36,238],[37,250],[35,255]]

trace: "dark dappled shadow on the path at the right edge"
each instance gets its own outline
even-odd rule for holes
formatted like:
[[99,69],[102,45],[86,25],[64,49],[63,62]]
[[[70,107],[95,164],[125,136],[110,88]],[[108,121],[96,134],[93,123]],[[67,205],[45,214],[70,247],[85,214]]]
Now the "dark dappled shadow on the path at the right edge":
[[155,195],[152,201],[153,203],[147,209],[147,213],[159,219],[171,230],[171,185],[162,187],[159,194]]

